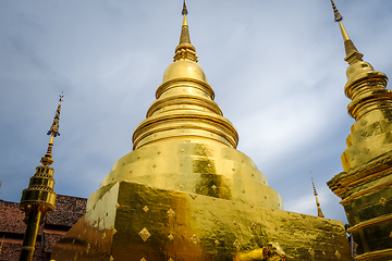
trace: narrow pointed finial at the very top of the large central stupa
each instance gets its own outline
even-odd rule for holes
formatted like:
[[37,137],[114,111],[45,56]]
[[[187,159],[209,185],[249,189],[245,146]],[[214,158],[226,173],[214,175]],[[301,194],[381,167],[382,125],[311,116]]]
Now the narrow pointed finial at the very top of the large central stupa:
[[184,0],[184,5],[182,10],[182,15],[184,16],[184,18],[181,28],[180,44],[175,48],[175,54],[173,57],[174,62],[180,60],[188,60],[188,61],[197,62],[196,48],[191,44],[189,28],[186,21],[187,14],[188,11],[186,9],[186,4]]

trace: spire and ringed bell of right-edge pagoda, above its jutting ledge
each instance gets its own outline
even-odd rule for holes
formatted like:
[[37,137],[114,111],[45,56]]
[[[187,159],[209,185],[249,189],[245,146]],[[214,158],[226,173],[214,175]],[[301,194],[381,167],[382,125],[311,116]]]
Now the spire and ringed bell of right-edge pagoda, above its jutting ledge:
[[387,89],[387,75],[375,71],[370,63],[363,61],[364,54],[358,52],[342,24],[343,16],[333,0],[331,3],[334,21],[339,23],[344,40],[346,52],[344,60],[350,64],[346,71],[347,83],[344,87],[344,94],[352,100],[347,105],[347,112],[356,121],[352,134],[346,139],[347,149],[341,158],[343,169],[346,171],[392,149],[392,142],[384,140],[388,128],[372,127],[372,124],[381,126],[390,115],[392,91]]

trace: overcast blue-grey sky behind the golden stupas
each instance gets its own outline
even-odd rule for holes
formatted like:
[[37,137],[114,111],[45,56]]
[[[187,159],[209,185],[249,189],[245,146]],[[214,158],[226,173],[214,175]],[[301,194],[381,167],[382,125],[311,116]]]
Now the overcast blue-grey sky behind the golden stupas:
[[[335,0],[364,60],[392,76],[392,1]],[[347,115],[344,47],[329,0],[188,0],[192,44],[224,116],[283,198],[345,221],[327,187],[354,120]],[[132,150],[172,62],[181,0],[0,0],[0,199],[19,201],[53,148],[57,194],[88,197]]]

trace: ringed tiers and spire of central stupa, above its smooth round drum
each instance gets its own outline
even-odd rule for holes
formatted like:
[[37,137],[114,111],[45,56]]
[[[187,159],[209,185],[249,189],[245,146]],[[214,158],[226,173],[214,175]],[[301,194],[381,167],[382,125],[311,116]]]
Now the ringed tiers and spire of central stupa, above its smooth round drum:
[[158,87],[157,100],[133,135],[134,149],[157,141],[184,138],[203,138],[236,148],[238,134],[222,116],[213,101],[215,94],[197,63],[196,48],[191,44],[186,21],[188,11],[184,2],[180,42],[175,48],[174,62]]

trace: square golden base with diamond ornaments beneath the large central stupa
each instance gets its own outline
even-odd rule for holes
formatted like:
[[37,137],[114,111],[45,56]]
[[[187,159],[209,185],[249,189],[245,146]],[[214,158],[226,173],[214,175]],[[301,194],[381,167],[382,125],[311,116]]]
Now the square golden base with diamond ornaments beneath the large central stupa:
[[124,181],[101,189],[51,260],[234,260],[270,241],[292,260],[352,260],[341,221]]

